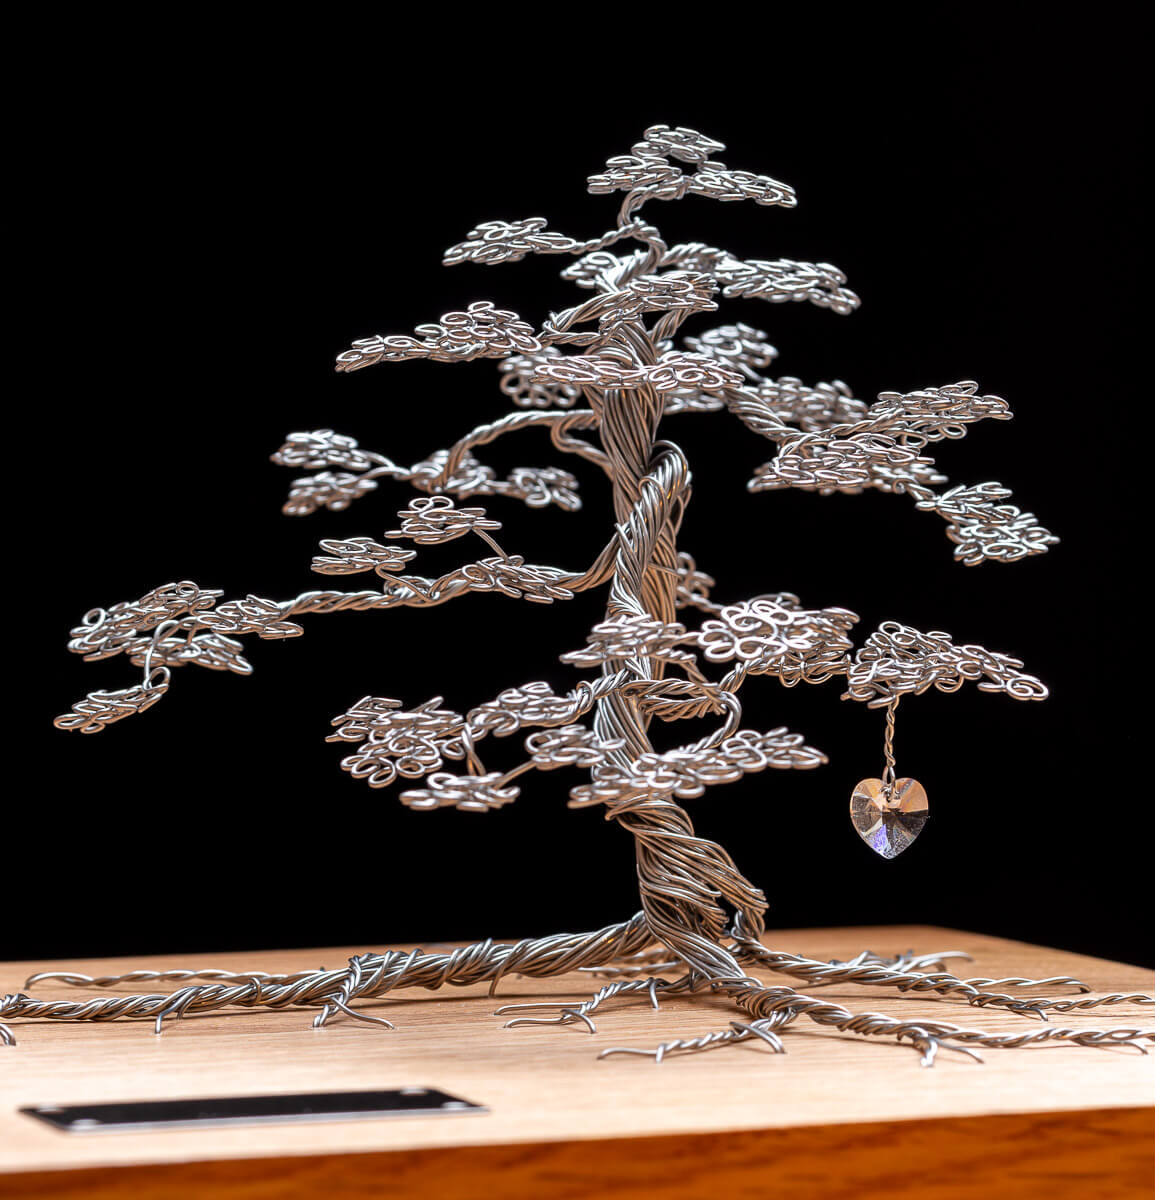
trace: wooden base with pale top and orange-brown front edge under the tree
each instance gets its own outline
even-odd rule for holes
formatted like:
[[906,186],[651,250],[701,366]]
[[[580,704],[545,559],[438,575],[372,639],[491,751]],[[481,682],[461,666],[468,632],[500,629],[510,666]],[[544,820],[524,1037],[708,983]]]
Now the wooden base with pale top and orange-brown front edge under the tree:
[[[1155,994],[1153,971],[928,926],[786,930],[767,942],[824,960],[863,948],[965,949],[975,961],[964,974],[1070,973],[1095,991]],[[364,949],[201,955],[196,965],[295,971],[339,966]],[[19,991],[38,970],[188,965],[187,955],[7,964],[0,992]],[[724,1028],[732,1010],[710,997],[668,1001],[658,1012],[632,1002],[598,1014],[594,1036],[582,1026],[504,1030],[492,1015],[499,1002],[596,986],[581,976],[511,978],[498,1001],[474,988],[397,991],[366,1006],[395,1031],[352,1021],[313,1030],[312,1013],[301,1010],[190,1016],[160,1038],[142,1021],[13,1022],[18,1045],[0,1048],[0,1195],[1151,1194],[1155,1055],[1042,1045],[987,1050],[979,1066],[944,1051],[928,1070],[909,1048],[800,1020],[786,1055],[754,1043],[656,1066],[596,1056],[608,1045],[653,1046]],[[88,992],[43,984],[35,994]],[[1028,1022],[881,988],[824,995],[855,1010],[987,1030]],[[1151,1027],[1155,1012],[1117,1006],[1063,1021]],[[413,1085],[491,1111],[98,1135],[60,1133],[17,1112],[26,1104]]]

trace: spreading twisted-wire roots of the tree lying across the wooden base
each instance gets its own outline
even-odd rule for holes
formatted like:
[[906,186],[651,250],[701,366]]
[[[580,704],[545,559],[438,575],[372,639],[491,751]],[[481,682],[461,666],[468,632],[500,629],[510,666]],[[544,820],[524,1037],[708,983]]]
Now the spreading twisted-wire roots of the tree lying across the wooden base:
[[[1048,979],[1019,977],[959,978],[941,970],[951,959],[965,959],[959,952],[912,953],[884,958],[869,950],[844,961],[822,962],[802,955],[770,950],[749,937],[741,937],[730,952],[743,964],[758,965],[807,980],[812,989],[834,984],[860,984],[893,988],[902,994],[959,1000],[977,1008],[1001,1008],[1016,1016],[1034,1016],[1047,1022],[1047,1014],[1082,1012],[1108,1004],[1155,1004],[1155,998],[1138,992],[1112,992],[1101,996],[1029,997],[1006,992],[1004,988],[1075,986],[1089,992],[1087,984],[1070,976]],[[360,954],[337,970],[318,968],[286,974],[233,972],[217,968],[130,971],[124,974],[85,976],[76,972],[47,971],[32,976],[25,986],[56,983],[70,986],[113,989],[137,985],[144,980],[187,983],[175,991],[134,992],[125,996],[98,996],[78,1001],[35,1000],[25,992],[0,998],[4,1021],[113,1021],[151,1020],[157,1033],[168,1018],[204,1014],[225,1009],[315,1009],[313,1027],[325,1026],[337,1015],[393,1028],[383,1016],[355,1007],[355,1002],[378,1000],[397,988],[436,989],[442,985],[466,986],[490,984],[490,994],[510,973],[538,978],[586,971],[609,976],[610,982],[592,996],[579,1001],[543,1000],[499,1008],[498,1014],[549,1012],[551,1015],[517,1015],[507,1027],[525,1025],[581,1024],[597,1032],[592,1014],[610,1001],[635,1000],[659,1007],[660,997],[688,996],[710,991],[735,1001],[749,1020],[735,1020],[730,1027],[695,1038],[672,1039],[652,1050],[611,1046],[599,1057],[636,1054],[660,1062],[674,1055],[695,1054],[725,1045],[758,1039],[776,1054],[784,1051],[779,1031],[806,1016],[809,1021],[843,1033],[888,1038],[920,1051],[923,1066],[933,1064],[940,1049],[958,1050],[977,1058],[974,1048],[1011,1049],[1042,1042],[1067,1042],[1085,1046],[1126,1046],[1145,1054],[1144,1043],[1155,1042],[1155,1028],[1121,1027],[1079,1030],[1046,1024],[1027,1032],[973,1030],[928,1018],[902,1019],[881,1013],[855,1013],[833,1001],[797,991],[790,986],[771,986],[749,977],[707,978],[701,972],[684,971],[684,964],[670,956],[664,947],[654,948],[639,914],[629,922],[606,926],[592,934],[556,935],[515,943],[475,942],[472,946],[439,954],[389,950]],[[669,979],[654,973],[658,967],[682,968]],[[923,970],[930,967],[933,970]],[[0,1044],[13,1045],[12,1028],[0,1022]]]

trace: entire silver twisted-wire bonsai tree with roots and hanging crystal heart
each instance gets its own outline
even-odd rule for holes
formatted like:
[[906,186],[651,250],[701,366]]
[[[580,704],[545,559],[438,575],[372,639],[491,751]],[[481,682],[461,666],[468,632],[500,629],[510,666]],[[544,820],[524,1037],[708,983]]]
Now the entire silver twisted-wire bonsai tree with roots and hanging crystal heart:
[[[364,954],[341,970],[292,976],[225,971],[132,972],[91,978],[48,972],[47,978],[86,986],[152,980],[179,983],[175,991],[40,1001],[24,992],[0,1002],[0,1016],[52,1020],[152,1018],[226,1007],[317,1010],[315,1024],[336,1014],[388,1025],[359,1012],[359,1000],[395,988],[439,988],[489,982],[491,992],[509,974],[553,976],[582,968],[605,979],[591,997],[573,1003],[513,1006],[552,1008],[517,1024],[581,1022],[611,998],[648,1000],[694,992],[730,997],[741,1019],[730,1027],[656,1049],[610,1048],[603,1054],[671,1052],[760,1038],[780,1051],[780,1033],[806,1016],[821,1026],[914,1045],[923,1063],[942,1045],[974,1054],[975,1046],[1021,1046],[1043,1040],[1143,1049],[1155,1030],[1066,1028],[1045,1024],[1030,1032],[999,1033],[946,1020],[902,1020],[856,1014],[794,986],[767,985],[748,970],[761,968],[806,984],[873,984],[934,992],[970,1006],[1042,1018],[1149,997],[1024,998],[1011,986],[1075,985],[1045,980],[959,978],[933,954],[884,959],[863,953],[846,962],[821,962],[768,949],[762,940],[766,899],[730,854],[694,832],[682,802],[707,787],[765,769],[808,769],[825,756],[785,728],[743,728],[740,689],[750,676],[782,684],[845,680],[844,698],[882,707],[887,715],[886,768],[864,780],[851,800],[860,834],[891,857],[917,835],[926,797],[914,780],[896,779],[894,713],[902,696],[928,688],[954,691],[974,680],[983,691],[1040,700],[1046,689],[1023,664],[980,646],[958,646],[942,632],[920,632],[886,622],[855,650],[857,617],[846,608],[807,608],[790,594],[736,604],[711,598],[713,580],[677,546],[688,497],[689,468],[682,450],[659,437],[663,419],[677,413],[728,410],[774,445],[773,457],[749,482],[754,492],[795,487],[830,494],[866,488],[906,494],[946,522],[962,563],[1016,562],[1057,539],[1029,512],[1006,503],[1010,492],[985,482],[938,488],[946,482],[924,451],[959,438],[974,421],[1006,420],[997,396],[971,382],[906,395],[884,392],[867,404],[845,384],[814,386],[762,372],[777,352],[758,330],[722,325],[678,341],[687,318],[713,312],[719,301],[755,298],[807,301],[836,313],[858,304],[843,274],[828,263],[742,260],[698,242],[669,246],[642,217],[656,200],[702,196],[791,208],[794,191],[765,175],[734,170],[713,157],[724,146],[693,130],[664,125],[646,131],[630,154],[611,158],[590,178],[596,194],[624,194],[609,233],[579,240],[546,227],[540,217],[489,221],[444,257],[447,265],[514,263],[527,254],[571,259],[564,278],[588,299],[551,314],[534,329],[516,313],[477,301],[447,313],[412,335],[364,338],[337,359],[337,370],[429,359],[461,362],[496,359],[501,390],[514,412],[481,425],[451,446],[405,467],[333,430],[293,433],[274,455],[283,466],[315,474],[293,482],[285,511],[343,510],[383,481],[408,482],[417,497],[400,511],[397,527],[372,536],[325,540],[313,569],[323,575],[376,575],[363,590],[312,590],[291,600],[257,595],[220,602],[221,593],[191,582],[168,583],[139,600],[89,612],[73,630],[70,649],[86,660],[126,655],[139,682],[119,691],[94,691],[56,720],[65,730],[95,733],[144,712],[169,688],[176,667],[199,665],[247,674],[240,637],[297,637],[298,618],[346,610],[432,607],[473,592],[501,592],[537,604],[567,600],[605,587],[605,618],[585,646],[563,661],[591,672],[573,690],[545,683],[511,688],[461,714],[432,697],[413,707],[366,696],[333,722],[329,740],[345,746],[345,770],[370,787],[402,784],[401,802],[414,809],[486,811],[516,799],[516,779],[529,770],[576,767],[585,782],[570,790],[571,806],[602,806],[636,842],[641,911],[628,920],[585,934],[558,934],[497,944],[484,941],[449,953],[414,950]],[[630,248],[633,247],[633,248]],[[616,524],[605,548],[585,570],[526,563],[495,539],[501,526],[483,508],[462,502],[505,496],[532,508],[579,508],[578,484],[558,468],[520,468],[508,478],[474,457],[499,437],[529,427],[549,430],[552,444],[600,467],[612,488]],[[584,436],[585,434],[585,436]],[[484,557],[438,578],[412,574],[423,546],[468,536]],[[678,613],[704,614],[696,626]],[[717,668],[713,673],[712,668]],[[654,721],[707,721],[710,730],[674,750],[654,750]],[[525,738],[527,757],[511,770],[484,762],[486,739]],[[456,764],[450,767],[448,764]],[[187,982],[193,980],[193,982]],[[0,1036],[12,1040],[10,1028]]]

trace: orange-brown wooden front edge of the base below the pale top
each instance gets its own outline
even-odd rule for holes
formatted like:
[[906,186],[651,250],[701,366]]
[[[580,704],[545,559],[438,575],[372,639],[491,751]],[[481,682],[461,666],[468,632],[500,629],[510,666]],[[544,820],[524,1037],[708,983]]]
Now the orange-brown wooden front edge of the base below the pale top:
[[1151,1109],[163,1163],[20,1175],[6,1200],[792,1200],[1150,1196]]

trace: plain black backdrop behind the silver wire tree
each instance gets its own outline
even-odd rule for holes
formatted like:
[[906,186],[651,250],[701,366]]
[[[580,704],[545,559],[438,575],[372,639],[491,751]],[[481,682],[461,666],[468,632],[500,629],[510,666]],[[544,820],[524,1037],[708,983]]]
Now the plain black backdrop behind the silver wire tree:
[[[576,774],[526,776],[501,812],[415,814],[324,743],[365,694],[462,710],[531,679],[573,686],[558,655],[600,594],[311,618],[299,640],[247,638],[249,679],[176,672],[156,708],[98,737],[50,722],[90,689],[136,682],[124,660],[65,652],[89,607],[180,578],[287,598],[325,586],[309,570],[318,539],[379,538],[405,485],[343,514],[280,515],[301,474],[269,462],[283,436],[330,426],[415,462],[507,402],[489,361],[345,377],[334,355],[474,299],[534,323],[574,302],[564,259],[445,270],[441,252],[495,217],[609,228],[620,198],[588,196],[585,178],[666,122],[800,197],[794,211],[654,204],[668,240],[833,262],[863,299],[845,318],[743,301],[687,331],[753,324],[779,348],[773,373],[843,378],[867,400],[977,379],[1016,419],[940,445],[940,466],[1001,480],[1063,538],[1016,565],[956,565],[941,521],[908,499],[749,496],[768,443],[725,414],[671,419],[695,479],[681,545],[718,598],[786,589],[854,608],[863,634],[887,618],[946,629],[1053,689],[1043,704],[971,689],[902,706],[899,773],[924,782],[932,820],[884,862],[846,816],[855,782],[879,773],[881,713],[839,702],[837,683],[754,679],[744,724],[788,724],[831,763],[713,788],[688,802],[699,829],[765,887],[772,928],[933,923],[1155,965],[1155,826],[1129,692],[1147,670],[1131,583],[1147,548],[1129,529],[1145,480],[1135,31],[1108,16],[1017,38],[831,17],[791,34],[719,14],[659,46],[623,13],[590,10],[564,37],[497,10],[441,29],[435,14],[403,38],[384,23],[154,31],[151,53],[106,31],[52,77],[65,108],[34,182],[50,229],[23,406],[40,450],[13,535],[32,701],[10,755],[37,778],[6,805],[2,956],[508,937],[635,911],[628,836],[565,808]],[[533,431],[481,457],[575,472],[581,512],[481,503],[529,562],[593,558],[611,521],[596,469]],[[475,552],[455,542],[414,569]],[[519,748],[481,749],[499,766]]]

